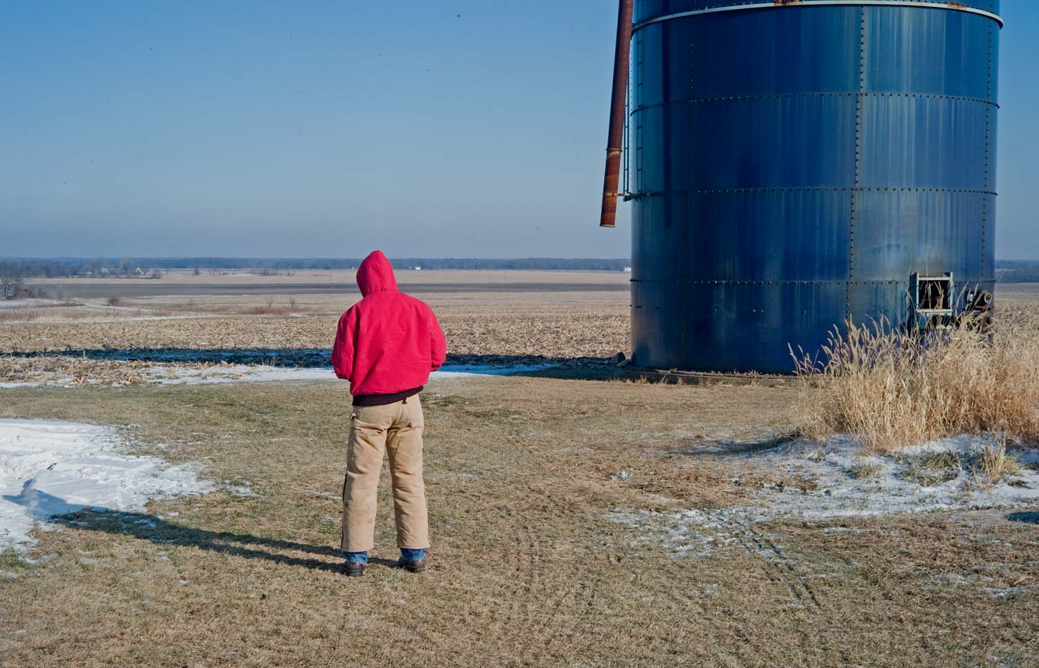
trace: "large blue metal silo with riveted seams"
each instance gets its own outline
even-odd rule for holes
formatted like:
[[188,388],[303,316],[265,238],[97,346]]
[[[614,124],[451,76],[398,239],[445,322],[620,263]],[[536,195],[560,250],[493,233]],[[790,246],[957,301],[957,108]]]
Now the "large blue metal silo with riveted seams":
[[998,0],[746,4],[636,0],[636,364],[789,372],[911,272],[992,290]]

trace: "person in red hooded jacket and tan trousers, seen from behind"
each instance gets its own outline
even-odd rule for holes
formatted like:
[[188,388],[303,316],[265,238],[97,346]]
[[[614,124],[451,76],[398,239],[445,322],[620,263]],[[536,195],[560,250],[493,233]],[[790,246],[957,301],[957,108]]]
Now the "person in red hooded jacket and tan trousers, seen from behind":
[[375,497],[382,453],[390,456],[399,565],[426,568],[429,528],[422,481],[419,392],[429,372],[444,364],[447,343],[432,309],[397,290],[381,250],[357,269],[364,298],[339,319],[331,349],[336,375],[350,381],[353,410],[343,484],[346,575],[365,573],[375,535]]

